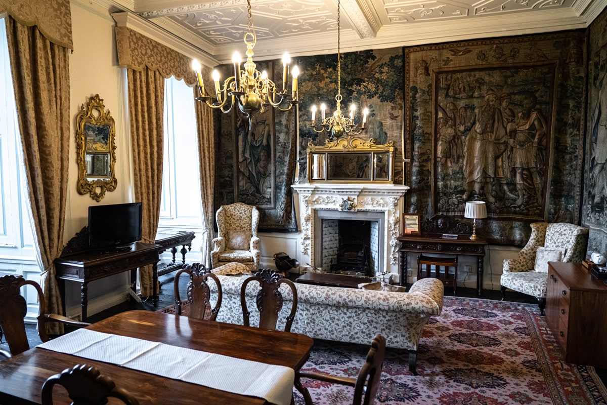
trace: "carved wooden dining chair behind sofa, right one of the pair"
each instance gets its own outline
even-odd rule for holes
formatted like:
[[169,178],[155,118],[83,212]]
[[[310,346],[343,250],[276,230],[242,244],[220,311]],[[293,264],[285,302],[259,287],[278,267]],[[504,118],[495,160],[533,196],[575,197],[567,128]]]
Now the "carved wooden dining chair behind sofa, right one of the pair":
[[257,310],[259,310],[259,327],[264,329],[276,329],[278,323],[278,315],[283,307],[284,300],[282,293],[280,293],[279,287],[282,284],[287,285],[291,288],[293,293],[293,306],[291,312],[285,319],[285,332],[291,331],[291,324],[295,318],[297,311],[297,290],[293,282],[289,279],[285,279],[282,274],[276,270],[264,268],[257,271],[253,277],[249,277],[242,283],[240,288],[240,305],[242,307],[243,323],[245,326],[249,326],[249,316],[251,312],[246,305],[246,286],[250,282],[258,282],[260,285],[259,292],[257,293],[255,302]]

